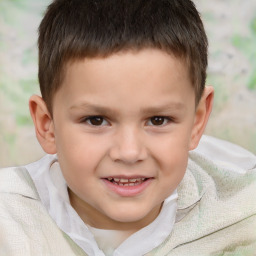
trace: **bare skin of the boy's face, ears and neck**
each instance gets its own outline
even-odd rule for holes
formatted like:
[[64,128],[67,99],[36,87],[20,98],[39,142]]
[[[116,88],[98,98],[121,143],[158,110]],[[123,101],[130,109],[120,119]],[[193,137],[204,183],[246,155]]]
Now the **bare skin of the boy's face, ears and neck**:
[[[132,233],[157,217],[181,182],[212,101],[213,88],[206,87],[195,106],[182,60],[144,49],[68,64],[53,117],[36,95],[30,111],[41,146],[58,154],[71,204],[83,221]],[[120,195],[107,185],[111,177],[144,177],[147,185]]]

